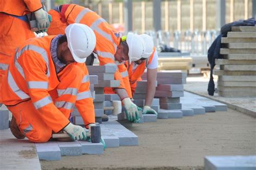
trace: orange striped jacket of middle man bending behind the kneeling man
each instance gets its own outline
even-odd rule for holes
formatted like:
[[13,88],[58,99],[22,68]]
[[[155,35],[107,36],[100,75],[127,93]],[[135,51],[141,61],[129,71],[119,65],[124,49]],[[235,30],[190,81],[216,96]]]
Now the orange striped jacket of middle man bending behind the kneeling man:
[[[96,12],[84,8],[83,6],[69,4],[62,5],[60,13],[55,10],[50,10],[49,14],[52,16],[52,22],[47,31],[49,35],[63,34],[66,26],[73,23],[81,23],[90,26],[96,35],[97,42],[95,52],[98,55],[99,64],[115,64],[114,54],[120,43],[120,35]],[[127,76],[124,77],[125,74]],[[131,92],[129,92],[131,89],[128,83],[129,77],[124,64],[118,66],[118,70],[114,74],[114,79],[120,80],[119,88],[126,89],[127,93],[131,94]]]

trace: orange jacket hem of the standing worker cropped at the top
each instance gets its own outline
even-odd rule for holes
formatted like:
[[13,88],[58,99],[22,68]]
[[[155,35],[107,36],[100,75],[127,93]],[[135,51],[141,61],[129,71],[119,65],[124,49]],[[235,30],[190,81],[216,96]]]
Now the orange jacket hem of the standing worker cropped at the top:
[[27,13],[42,8],[40,0],[2,0],[0,1],[0,12],[16,16],[23,16]]

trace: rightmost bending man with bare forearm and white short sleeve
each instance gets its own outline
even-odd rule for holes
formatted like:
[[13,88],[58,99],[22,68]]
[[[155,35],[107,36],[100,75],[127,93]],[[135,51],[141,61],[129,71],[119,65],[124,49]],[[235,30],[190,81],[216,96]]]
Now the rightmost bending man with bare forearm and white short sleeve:
[[142,80],[141,76],[147,69],[147,91],[142,114],[157,114],[150,106],[156,92],[158,54],[151,36],[143,34],[140,37],[144,39],[146,46],[143,57],[131,56],[129,62],[126,62],[125,65],[129,73],[132,94],[137,87],[137,81]]

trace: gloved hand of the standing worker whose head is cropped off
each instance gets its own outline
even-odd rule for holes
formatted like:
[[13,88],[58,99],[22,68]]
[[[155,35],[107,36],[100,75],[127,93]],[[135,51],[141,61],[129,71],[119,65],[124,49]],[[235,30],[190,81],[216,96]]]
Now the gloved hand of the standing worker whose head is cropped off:
[[51,16],[43,8],[35,11],[35,16],[39,30],[47,29],[50,26]]

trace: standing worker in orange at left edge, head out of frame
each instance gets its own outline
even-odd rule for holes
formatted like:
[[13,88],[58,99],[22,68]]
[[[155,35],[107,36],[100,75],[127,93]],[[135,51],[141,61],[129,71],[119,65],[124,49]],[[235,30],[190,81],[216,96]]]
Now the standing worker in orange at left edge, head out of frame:
[[[35,37],[26,16],[31,12],[35,12],[38,29],[49,26],[48,13],[42,9],[40,0],[0,1],[0,89],[2,77],[15,49],[26,39]],[[0,103],[1,97],[0,93]]]

